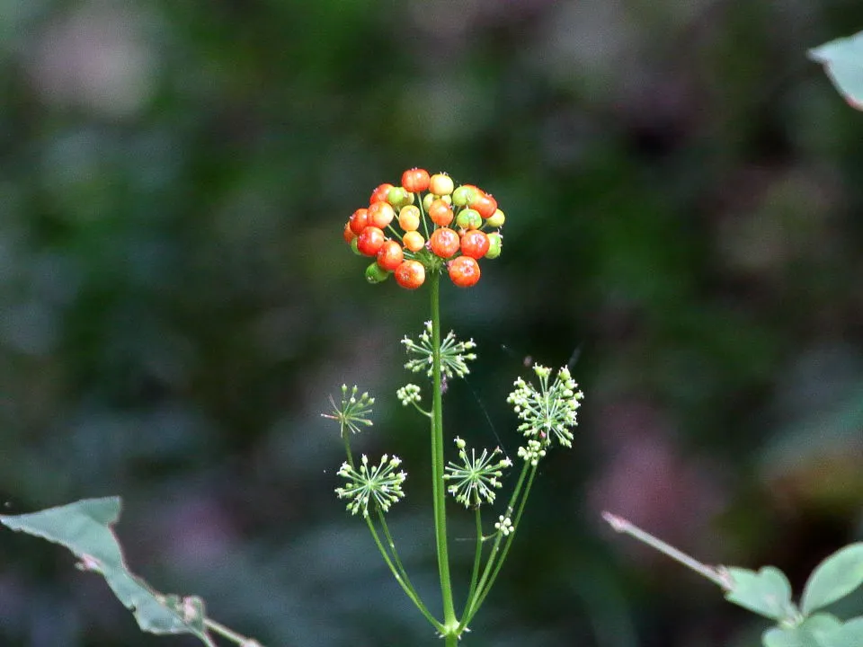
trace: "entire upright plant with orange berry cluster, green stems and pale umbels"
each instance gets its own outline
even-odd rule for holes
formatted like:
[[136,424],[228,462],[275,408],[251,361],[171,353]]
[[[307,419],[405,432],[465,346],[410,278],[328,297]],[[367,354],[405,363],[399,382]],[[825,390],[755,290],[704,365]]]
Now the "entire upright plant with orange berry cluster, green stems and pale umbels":
[[[397,217],[397,221],[396,221]],[[443,394],[448,381],[469,373],[467,362],[476,359],[473,340],[458,341],[454,332],[442,334],[440,325],[440,282],[449,279],[459,288],[474,286],[480,278],[477,259],[494,259],[501,253],[504,222],[497,202],[481,189],[464,184],[456,187],[445,173],[429,175],[422,169],[406,171],[402,186],[381,184],[372,193],[369,208],[357,209],[344,227],[344,240],[354,252],[374,257],[366,270],[369,283],[380,283],[394,275],[402,288],[429,289],[430,319],[423,326],[417,341],[405,336],[402,344],[407,351],[405,368],[421,374],[431,382],[432,405],[420,405],[422,389],[408,384],[396,391],[404,406],[429,419],[429,442],[432,460],[432,515],[434,544],[437,557],[442,617],[439,619],[425,606],[414,589],[405,565],[396,550],[396,541],[387,526],[386,513],[400,501],[405,492],[402,485],[407,474],[397,468],[400,459],[391,454],[378,463],[361,456],[354,462],[351,436],[371,425],[370,410],[374,399],[342,387],[342,400],[334,411],[325,414],[339,423],[346,460],[339,475],[346,481],[336,489],[347,500],[351,514],[364,518],[378,551],[393,573],[399,586],[444,640],[446,647],[455,647],[468,624],[476,616],[496,581],[503,562],[520,527],[539,461],[554,446],[572,447],[572,428],[582,398],[567,368],[561,368],[552,378],[550,368],[536,366],[538,387],[522,378],[507,402],[520,420],[518,431],[525,443],[518,449],[522,459],[519,478],[503,513],[483,518],[483,507],[493,505],[496,490],[503,487],[505,471],[512,461],[500,448],[467,448],[456,437],[458,461],[446,462],[443,426]],[[395,224],[397,222],[398,227]],[[422,234],[420,231],[422,230]],[[387,237],[391,235],[392,237]],[[427,401],[426,401],[427,402]],[[476,524],[475,554],[464,607],[457,610],[449,563],[447,533],[447,501],[449,493],[455,501],[474,512]],[[484,528],[488,526],[488,534]]]

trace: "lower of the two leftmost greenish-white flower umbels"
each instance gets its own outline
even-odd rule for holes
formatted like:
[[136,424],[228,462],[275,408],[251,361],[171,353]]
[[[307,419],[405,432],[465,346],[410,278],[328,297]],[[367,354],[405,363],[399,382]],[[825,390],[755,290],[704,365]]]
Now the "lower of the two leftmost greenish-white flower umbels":
[[348,510],[351,514],[362,512],[363,517],[369,516],[369,501],[374,502],[378,508],[386,512],[389,507],[405,497],[402,491],[402,483],[405,483],[407,474],[396,472],[396,467],[401,465],[402,460],[398,456],[381,456],[378,465],[369,467],[369,456],[362,455],[360,469],[343,463],[339,469],[339,476],[347,479],[348,483],[343,488],[336,488],[335,493],[339,499],[350,499]]

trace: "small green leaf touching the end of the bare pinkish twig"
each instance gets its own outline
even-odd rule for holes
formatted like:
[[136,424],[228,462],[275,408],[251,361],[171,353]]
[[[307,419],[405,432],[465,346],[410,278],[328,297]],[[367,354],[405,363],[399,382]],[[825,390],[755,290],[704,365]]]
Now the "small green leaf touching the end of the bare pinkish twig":
[[799,616],[791,602],[791,585],[785,573],[774,566],[759,572],[730,566],[725,572],[731,584],[725,599],[771,620],[793,621]]

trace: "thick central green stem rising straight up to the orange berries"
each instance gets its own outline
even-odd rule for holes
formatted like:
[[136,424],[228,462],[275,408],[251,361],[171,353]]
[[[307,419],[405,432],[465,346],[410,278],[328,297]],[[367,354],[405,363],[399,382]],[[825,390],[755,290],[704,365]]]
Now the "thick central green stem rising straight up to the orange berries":
[[432,498],[434,503],[434,534],[438,549],[440,594],[443,598],[443,626],[446,647],[458,644],[458,620],[452,604],[452,583],[449,578],[447,545],[447,510],[443,487],[443,391],[440,375],[440,274],[432,273]]

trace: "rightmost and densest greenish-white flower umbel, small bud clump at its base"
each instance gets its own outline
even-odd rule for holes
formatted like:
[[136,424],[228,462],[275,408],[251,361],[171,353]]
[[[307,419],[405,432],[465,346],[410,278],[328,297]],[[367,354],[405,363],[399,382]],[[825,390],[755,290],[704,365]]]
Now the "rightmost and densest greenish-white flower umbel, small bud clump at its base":
[[581,391],[575,390],[578,385],[570,375],[569,368],[557,371],[551,386],[548,385],[551,368],[536,365],[534,372],[539,377],[539,389],[519,377],[515,381],[515,391],[506,399],[523,421],[519,431],[529,441],[538,441],[535,446],[529,442],[524,451],[519,449],[519,456],[530,462],[543,456],[541,450],[550,447],[553,439],[557,439],[564,447],[573,446],[571,429],[578,424],[576,413],[581,406],[579,401],[584,397]]

